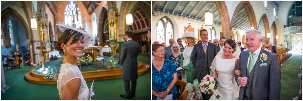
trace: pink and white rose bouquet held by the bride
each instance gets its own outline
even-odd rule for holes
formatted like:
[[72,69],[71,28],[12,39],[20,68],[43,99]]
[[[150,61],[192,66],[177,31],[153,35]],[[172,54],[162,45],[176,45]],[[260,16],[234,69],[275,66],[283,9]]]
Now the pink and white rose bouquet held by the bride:
[[203,77],[203,80],[201,80],[199,87],[202,93],[204,94],[214,93],[216,98],[219,99],[220,96],[216,92],[216,89],[218,88],[218,84],[219,82],[216,77],[207,74],[205,77]]

